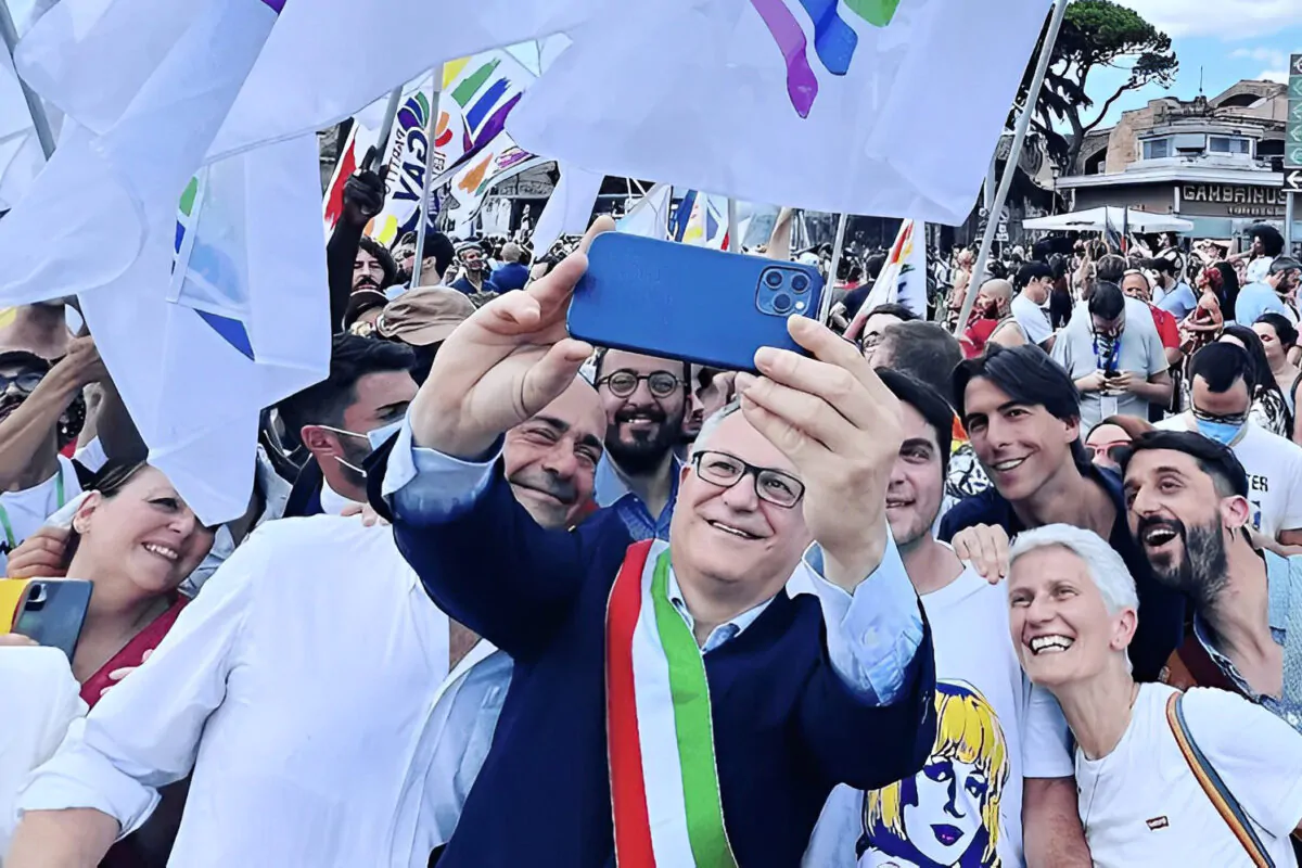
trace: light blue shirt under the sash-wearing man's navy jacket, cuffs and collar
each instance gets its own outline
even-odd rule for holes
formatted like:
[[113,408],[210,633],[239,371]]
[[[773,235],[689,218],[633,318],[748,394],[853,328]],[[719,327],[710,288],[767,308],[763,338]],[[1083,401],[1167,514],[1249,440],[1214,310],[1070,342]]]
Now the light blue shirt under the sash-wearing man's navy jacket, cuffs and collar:
[[[411,424],[404,420],[389,455],[381,493],[396,515],[417,524],[448,521],[469,510],[487,491],[501,441],[482,462],[469,462],[432,449],[415,446]],[[922,644],[922,614],[918,593],[887,532],[881,563],[854,593],[823,578],[823,552],[810,547],[790,586],[780,593],[812,592],[823,608],[827,651],[832,669],[863,701],[888,705],[905,688],[905,674]],[[678,580],[669,573],[669,599],[687,626],[694,621],[682,599]],[[753,625],[772,599],[715,627],[703,653],[710,653]]]

